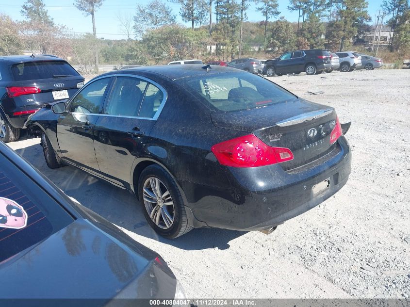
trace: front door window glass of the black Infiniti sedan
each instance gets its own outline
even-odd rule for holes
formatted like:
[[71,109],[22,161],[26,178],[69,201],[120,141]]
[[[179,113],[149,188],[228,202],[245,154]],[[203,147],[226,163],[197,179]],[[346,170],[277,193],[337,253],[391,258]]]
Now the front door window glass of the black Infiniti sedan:
[[103,78],[92,82],[74,97],[71,112],[74,113],[99,113],[107,94],[111,78]]

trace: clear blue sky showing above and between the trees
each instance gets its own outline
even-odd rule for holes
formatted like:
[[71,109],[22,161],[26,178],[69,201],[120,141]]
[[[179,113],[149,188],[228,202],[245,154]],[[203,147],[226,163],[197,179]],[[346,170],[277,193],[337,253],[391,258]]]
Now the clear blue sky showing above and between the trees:
[[[21,20],[21,6],[25,0],[0,0],[0,12],[10,15],[13,19]],[[56,23],[66,25],[73,32],[92,32],[91,16],[85,17],[73,5],[74,0],[44,0],[49,15],[54,18]],[[96,13],[96,28],[98,37],[121,39],[125,35],[121,34],[117,15],[133,15],[137,3],[146,4],[149,0],[105,0],[101,8]],[[290,21],[297,21],[297,12],[287,10],[288,0],[279,0],[280,16],[284,16]],[[376,19],[378,10],[382,0],[369,0],[368,12],[372,16],[373,21]],[[183,23],[180,16],[180,5],[177,3],[167,3],[174,14],[177,15],[177,20]],[[257,5],[252,3],[246,14],[249,21],[260,21],[263,19],[261,13],[256,11]],[[215,20],[215,17],[213,17]],[[189,24],[186,24],[189,26]]]

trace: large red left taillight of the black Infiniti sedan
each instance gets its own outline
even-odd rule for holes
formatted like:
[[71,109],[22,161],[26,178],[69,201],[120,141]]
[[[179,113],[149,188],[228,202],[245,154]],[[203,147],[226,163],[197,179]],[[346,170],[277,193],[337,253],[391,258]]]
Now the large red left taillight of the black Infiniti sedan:
[[233,167],[257,167],[293,159],[290,149],[268,146],[253,134],[213,145],[211,150],[219,163]]

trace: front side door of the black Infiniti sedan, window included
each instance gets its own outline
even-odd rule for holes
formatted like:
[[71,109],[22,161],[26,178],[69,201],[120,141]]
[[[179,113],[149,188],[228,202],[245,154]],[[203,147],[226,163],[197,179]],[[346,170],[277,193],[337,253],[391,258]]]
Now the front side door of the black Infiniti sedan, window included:
[[57,139],[64,159],[97,175],[94,126],[111,81],[112,77],[105,77],[86,84],[70,100],[69,111],[61,114],[57,122]]

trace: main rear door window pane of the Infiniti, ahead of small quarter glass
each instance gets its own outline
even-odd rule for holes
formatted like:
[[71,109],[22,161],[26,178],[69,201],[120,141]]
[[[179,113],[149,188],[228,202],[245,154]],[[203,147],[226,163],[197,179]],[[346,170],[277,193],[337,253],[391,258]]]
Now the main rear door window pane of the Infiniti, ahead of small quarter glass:
[[138,116],[140,104],[147,86],[148,82],[141,79],[117,77],[105,113]]

